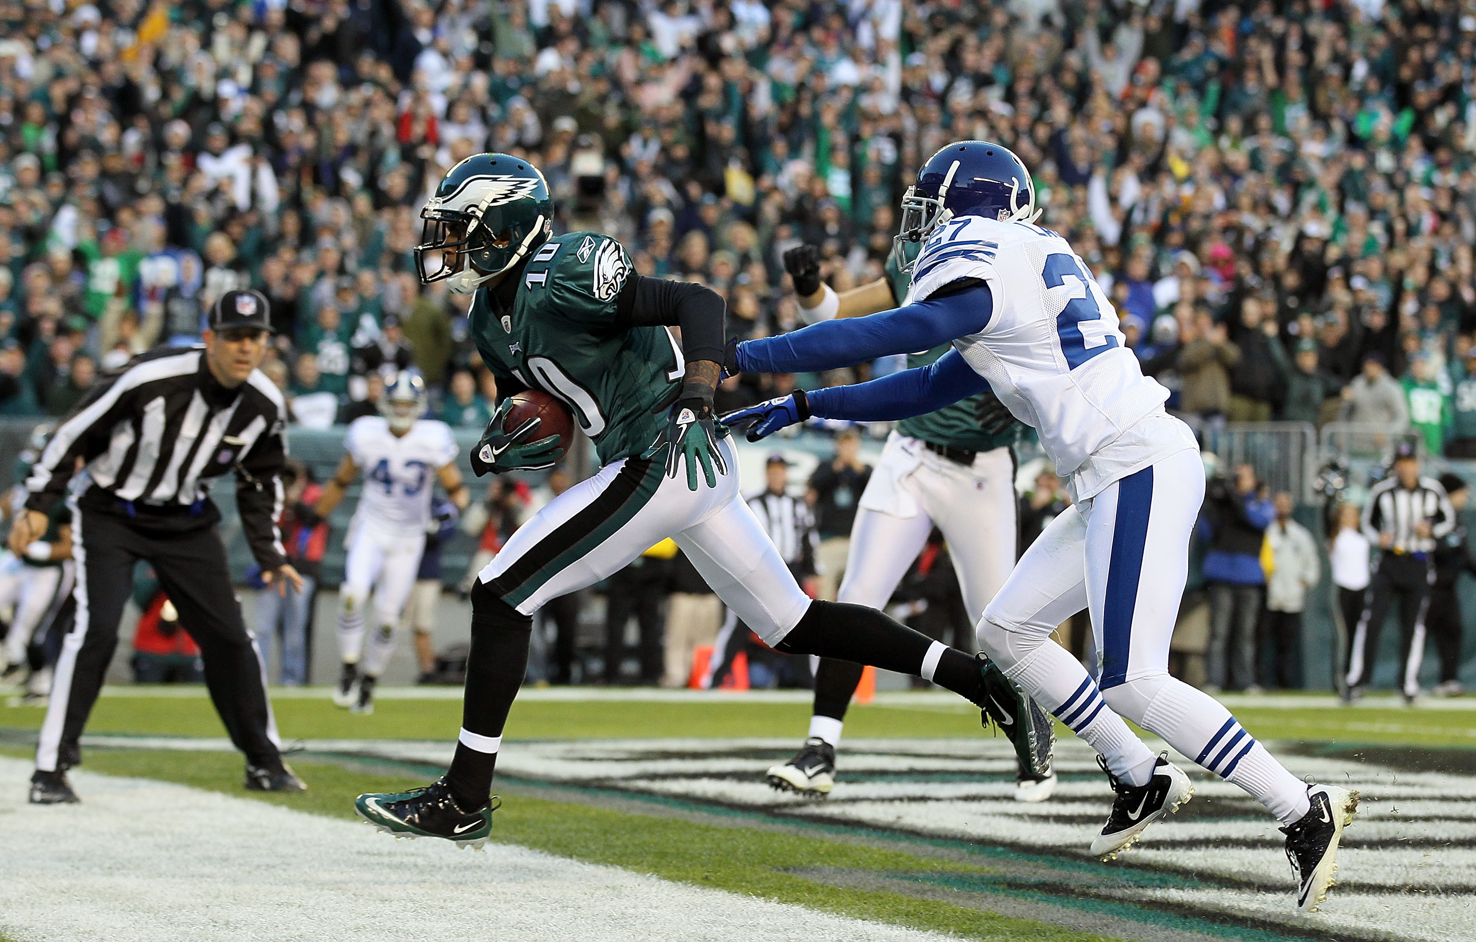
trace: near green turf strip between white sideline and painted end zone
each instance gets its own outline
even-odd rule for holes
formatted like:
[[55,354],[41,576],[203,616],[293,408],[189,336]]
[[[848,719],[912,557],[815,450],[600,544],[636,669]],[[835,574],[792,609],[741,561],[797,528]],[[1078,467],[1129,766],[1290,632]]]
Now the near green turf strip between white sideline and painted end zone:
[[[4,755],[25,755],[0,749]],[[424,778],[294,759],[311,783],[306,795],[261,795],[241,787],[241,756],[224,752],[152,752],[90,749],[94,772],[174,781],[233,798],[254,798],[311,814],[354,818],[353,799],[365,790],[394,792],[425,784]],[[515,814],[496,818],[494,840],[559,856],[624,867],[667,880],[762,896],[855,918],[930,929],[990,942],[1098,942],[1108,936],[1072,932],[1030,920],[1008,918],[968,907],[917,899],[886,890],[830,886],[788,873],[806,867],[958,879],[993,871],[976,864],[917,856],[824,837],[695,824],[679,818],[623,814],[607,808],[520,795]],[[511,808],[509,808],[511,811]],[[388,840],[388,837],[385,837]],[[0,936],[0,942],[9,942]]]

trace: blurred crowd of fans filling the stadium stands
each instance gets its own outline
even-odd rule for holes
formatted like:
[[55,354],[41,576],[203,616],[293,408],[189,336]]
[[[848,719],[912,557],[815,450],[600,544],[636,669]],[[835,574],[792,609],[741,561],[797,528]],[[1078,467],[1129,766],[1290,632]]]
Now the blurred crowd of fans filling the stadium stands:
[[1476,456],[1470,0],[0,0],[0,24],[3,414],[66,411],[252,285],[301,423],[413,363],[477,426],[468,299],[410,257],[458,159],[525,155],[561,227],[763,335],[797,323],[787,248],[821,245],[837,289],[880,277],[902,189],[967,137],[1033,170],[1194,423],[1410,422]]

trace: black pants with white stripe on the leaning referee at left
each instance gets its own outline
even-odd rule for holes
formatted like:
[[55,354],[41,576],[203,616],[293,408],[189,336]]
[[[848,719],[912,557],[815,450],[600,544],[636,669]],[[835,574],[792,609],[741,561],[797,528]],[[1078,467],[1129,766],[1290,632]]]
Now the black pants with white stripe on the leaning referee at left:
[[142,559],[154,565],[159,585],[179,609],[180,625],[199,644],[205,685],[230,742],[251,765],[276,770],[282,758],[266,677],[241,618],[215,526],[146,529],[128,517],[84,507],[72,517],[72,540],[77,615],[56,660],[35,767],[56,771],[81,762],[78,740],[118,647],[118,621],[133,594],[134,563]]

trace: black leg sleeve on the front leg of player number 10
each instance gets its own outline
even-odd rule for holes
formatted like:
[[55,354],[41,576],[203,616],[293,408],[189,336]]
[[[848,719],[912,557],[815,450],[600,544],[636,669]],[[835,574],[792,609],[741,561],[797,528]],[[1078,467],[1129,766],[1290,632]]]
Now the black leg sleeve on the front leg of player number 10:
[[[500,737],[508,711],[528,669],[528,644],[533,616],[521,615],[486,582],[471,590],[471,650],[466,655],[466,690],[462,700],[462,728],[477,736]],[[481,808],[492,793],[496,752],[456,743],[446,781],[462,808]]]

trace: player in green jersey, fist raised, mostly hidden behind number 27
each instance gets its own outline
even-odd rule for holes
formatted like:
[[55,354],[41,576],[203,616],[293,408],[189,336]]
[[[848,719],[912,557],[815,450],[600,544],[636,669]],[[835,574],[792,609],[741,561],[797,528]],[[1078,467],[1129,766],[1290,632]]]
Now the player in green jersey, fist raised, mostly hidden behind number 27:
[[[816,323],[900,307],[912,286],[912,261],[920,248],[920,242],[897,239],[887,257],[886,277],[840,295],[821,280],[815,246],[790,249],[784,267],[794,280],[800,317]],[[909,354],[908,369],[927,366],[948,351],[942,345]],[[1014,569],[1014,445],[1023,429],[992,392],[899,422],[856,509],[840,601],[886,607],[937,526],[948,540],[964,606],[971,616],[980,615]],[[830,793],[841,724],[861,671],[850,660],[821,660],[809,736],[793,759],[769,770],[770,786],[806,798]],[[1015,799],[1044,802],[1055,792],[1057,781],[1051,771],[1054,722],[1035,703],[1030,706],[1020,716],[1005,708],[987,709],[1002,728],[1015,722],[1023,727],[1024,736],[1014,739]]]

